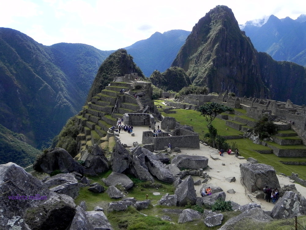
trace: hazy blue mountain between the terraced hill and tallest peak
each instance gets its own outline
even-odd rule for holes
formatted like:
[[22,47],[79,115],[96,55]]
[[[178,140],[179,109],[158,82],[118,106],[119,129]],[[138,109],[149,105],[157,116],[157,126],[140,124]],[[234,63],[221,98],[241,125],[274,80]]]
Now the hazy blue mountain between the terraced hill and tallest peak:
[[138,41],[125,49],[133,56],[134,62],[144,75],[149,77],[154,70],[164,72],[170,67],[189,34],[190,31],[185,30],[155,32],[150,38]]

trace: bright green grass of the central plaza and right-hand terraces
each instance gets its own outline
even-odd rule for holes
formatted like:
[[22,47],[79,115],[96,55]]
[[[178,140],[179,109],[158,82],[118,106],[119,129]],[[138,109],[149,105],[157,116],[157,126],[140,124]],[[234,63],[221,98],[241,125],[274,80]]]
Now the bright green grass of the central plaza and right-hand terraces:
[[[175,117],[177,121],[181,124],[186,124],[193,126],[195,132],[199,133],[200,138],[203,138],[203,134],[208,132],[207,122],[203,116],[200,116],[200,113],[194,110],[185,110],[185,109],[176,109],[176,113],[166,114],[162,110],[166,108],[164,104],[161,104],[162,100],[155,100],[155,105],[162,105],[162,108],[159,108],[159,111],[164,116]],[[235,109],[241,113],[245,113],[243,109]],[[218,130],[218,134],[222,136],[231,136],[231,135],[241,135],[241,131],[235,130],[231,127],[225,125],[225,121],[216,118],[213,121],[213,126]],[[226,130],[228,128],[228,130]],[[251,128],[251,127],[250,127]],[[203,132],[202,132],[203,131]],[[281,130],[280,132],[288,132],[288,130]],[[292,130],[289,130],[292,132]],[[278,137],[279,138],[279,137]],[[258,160],[259,163],[269,164],[275,168],[279,173],[285,173],[286,175],[291,175],[291,172],[298,173],[301,179],[306,179],[306,166],[304,165],[285,165],[279,161],[306,161],[306,157],[278,157],[274,154],[261,154],[256,152],[256,150],[271,150],[271,148],[263,145],[254,144],[251,140],[246,138],[241,139],[231,139],[227,141],[232,144],[236,142],[238,146],[239,153],[248,158],[253,157]],[[273,145],[279,149],[306,149],[304,145],[278,145],[275,142],[268,142],[269,145]]]

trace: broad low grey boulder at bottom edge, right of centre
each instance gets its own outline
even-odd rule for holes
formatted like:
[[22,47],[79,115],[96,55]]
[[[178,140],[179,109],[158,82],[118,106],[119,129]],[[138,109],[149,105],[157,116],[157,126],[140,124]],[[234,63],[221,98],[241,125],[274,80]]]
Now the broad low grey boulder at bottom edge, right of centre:
[[273,219],[260,208],[253,208],[240,215],[233,217],[225,222],[219,230],[230,230],[236,226],[243,226],[247,222],[250,226],[256,226],[259,223],[271,222]]

